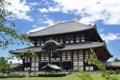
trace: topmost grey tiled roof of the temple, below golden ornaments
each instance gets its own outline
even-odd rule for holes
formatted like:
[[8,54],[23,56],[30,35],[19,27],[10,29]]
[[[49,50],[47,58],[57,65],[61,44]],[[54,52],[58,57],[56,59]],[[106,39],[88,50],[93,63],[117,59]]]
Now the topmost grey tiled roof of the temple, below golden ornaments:
[[46,36],[46,35],[54,35],[54,34],[62,34],[62,33],[70,33],[77,31],[84,31],[94,28],[92,25],[81,24],[76,21],[58,23],[48,28],[31,32],[28,37],[37,37],[37,36]]

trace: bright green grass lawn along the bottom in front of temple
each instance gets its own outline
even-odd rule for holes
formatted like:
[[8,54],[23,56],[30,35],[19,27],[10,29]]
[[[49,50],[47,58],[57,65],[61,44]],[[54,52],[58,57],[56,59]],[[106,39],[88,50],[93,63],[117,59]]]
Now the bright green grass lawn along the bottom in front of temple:
[[[91,74],[94,80],[104,80],[101,77],[101,74]],[[118,76],[118,79],[120,79],[120,75]],[[78,75],[72,74],[67,75],[65,77],[26,77],[26,78],[0,78],[0,80],[80,80]]]

